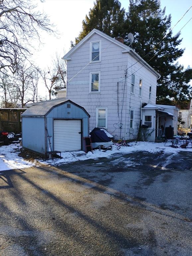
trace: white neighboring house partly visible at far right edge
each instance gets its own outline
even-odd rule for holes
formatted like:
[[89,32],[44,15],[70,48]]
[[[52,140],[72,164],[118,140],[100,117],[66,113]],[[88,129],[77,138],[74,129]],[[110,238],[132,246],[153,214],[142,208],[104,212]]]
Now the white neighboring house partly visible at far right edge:
[[191,128],[192,125],[192,100],[190,100],[188,103],[183,104],[180,107],[179,110],[179,117],[182,119],[182,121],[185,122],[185,124],[180,124],[182,128]]

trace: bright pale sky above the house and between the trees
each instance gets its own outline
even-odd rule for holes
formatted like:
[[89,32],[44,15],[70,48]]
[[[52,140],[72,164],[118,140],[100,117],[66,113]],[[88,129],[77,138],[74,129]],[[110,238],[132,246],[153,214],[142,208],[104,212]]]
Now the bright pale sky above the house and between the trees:
[[[40,68],[46,68],[51,65],[52,59],[57,52],[62,57],[70,49],[70,41],[74,41],[82,29],[82,20],[88,15],[89,9],[93,7],[93,0],[46,0],[44,3],[38,2],[38,7],[44,11],[54,23],[59,32],[59,38],[53,35],[42,34],[44,45],[35,52],[33,58]],[[120,0],[122,7],[128,10],[129,0]],[[172,16],[172,26],[183,16],[183,14],[192,5],[192,0],[161,0],[161,8],[166,7],[166,14]],[[192,8],[184,18],[173,29],[175,35],[185,23],[192,17]],[[181,38],[183,38],[181,47],[185,48],[183,56],[179,63],[187,68],[192,66],[192,20],[182,29]],[[134,47],[134,45],[133,45]],[[150,64],[150,63],[149,63]],[[41,93],[45,93],[43,86]]]

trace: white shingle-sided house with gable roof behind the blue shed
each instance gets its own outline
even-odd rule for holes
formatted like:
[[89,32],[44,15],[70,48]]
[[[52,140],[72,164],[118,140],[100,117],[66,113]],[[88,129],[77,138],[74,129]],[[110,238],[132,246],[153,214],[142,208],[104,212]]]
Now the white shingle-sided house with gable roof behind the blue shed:
[[[154,129],[153,141],[159,116],[173,120],[173,114],[155,105],[160,75],[122,40],[93,29],[63,57],[67,61],[66,99],[87,110],[90,130],[103,127],[116,139],[135,139],[142,119]],[[144,103],[150,108],[142,108]]]

